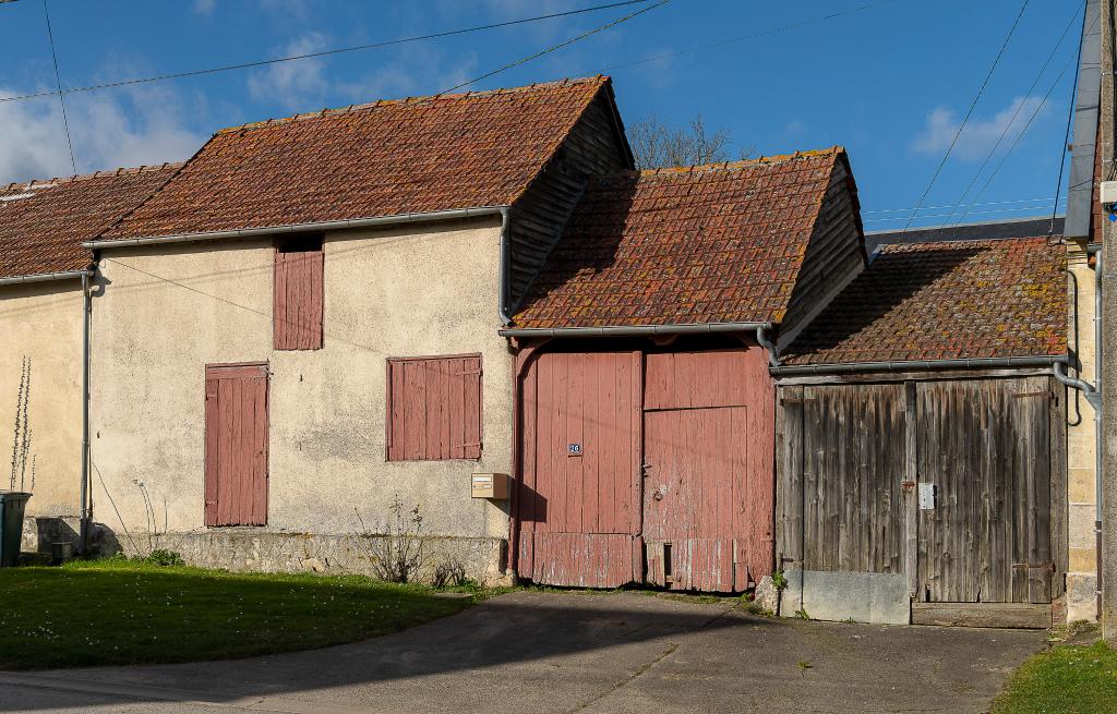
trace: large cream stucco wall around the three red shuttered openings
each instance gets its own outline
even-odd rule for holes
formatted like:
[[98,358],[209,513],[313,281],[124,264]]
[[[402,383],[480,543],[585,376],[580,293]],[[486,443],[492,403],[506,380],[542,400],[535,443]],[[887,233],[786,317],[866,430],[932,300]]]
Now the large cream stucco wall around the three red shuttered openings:
[[[120,519],[146,528],[140,482],[160,531],[206,530],[204,366],[268,360],[265,530],[353,533],[354,511],[379,530],[399,493],[420,506],[428,534],[505,537],[504,504],[469,498],[471,472],[510,469],[498,243],[496,220],[328,234],[324,348],[313,351],[271,349],[268,241],[106,252],[107,284],[94,306],[92,453]],[[385,358],[465,353],[483,355],[480,462],[386,463]],[[115,529],[94,479],[96,520]]]

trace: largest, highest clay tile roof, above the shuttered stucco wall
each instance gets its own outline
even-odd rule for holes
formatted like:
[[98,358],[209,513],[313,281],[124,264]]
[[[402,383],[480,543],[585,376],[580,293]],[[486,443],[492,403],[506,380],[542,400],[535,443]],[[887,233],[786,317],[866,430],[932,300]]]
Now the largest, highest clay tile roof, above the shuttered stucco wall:
[[608,85],[381,100],[223,129],[103,238],[507,205]]

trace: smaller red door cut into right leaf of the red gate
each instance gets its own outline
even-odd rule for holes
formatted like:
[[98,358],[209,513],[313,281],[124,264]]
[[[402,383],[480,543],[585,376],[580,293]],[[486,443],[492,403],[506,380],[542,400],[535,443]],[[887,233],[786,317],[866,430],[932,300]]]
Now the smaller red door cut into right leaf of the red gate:
[[[643,538],[647,579],[678,590],[731,592],[738,571],[739,508],[748,500],[748,409],[743,406],[645,414]],[[742,565],[746,563],[742,561]]]

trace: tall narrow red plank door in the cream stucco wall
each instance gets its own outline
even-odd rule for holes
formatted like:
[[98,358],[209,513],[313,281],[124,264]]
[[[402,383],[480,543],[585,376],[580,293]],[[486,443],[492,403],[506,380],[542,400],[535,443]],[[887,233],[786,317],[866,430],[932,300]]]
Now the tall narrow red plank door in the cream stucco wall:
[[268,517],[268,366],[206,367],[206,524]]

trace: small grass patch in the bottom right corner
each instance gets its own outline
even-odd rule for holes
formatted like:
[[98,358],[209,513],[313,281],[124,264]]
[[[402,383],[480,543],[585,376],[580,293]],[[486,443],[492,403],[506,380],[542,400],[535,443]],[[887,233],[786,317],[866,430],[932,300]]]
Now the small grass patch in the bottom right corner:
[[1117,650],[1105,643],[1059,645],[1016,669],[993,714],[1117,712]]

